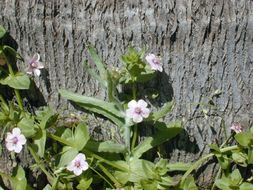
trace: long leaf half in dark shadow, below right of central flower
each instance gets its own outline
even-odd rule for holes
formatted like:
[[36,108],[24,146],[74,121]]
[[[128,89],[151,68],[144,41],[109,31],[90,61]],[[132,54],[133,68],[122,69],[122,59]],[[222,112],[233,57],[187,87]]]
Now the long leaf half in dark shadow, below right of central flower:
[[180,131],[182,131],[180,121],[171,122],[167,126],[163,122],[156,122],[155,127],[158,129],[157,133],[152,137],[147,137],[143,142],[134,148],[134,157],[140,158],[143,153],[168,141],[169,139],[175,137]]

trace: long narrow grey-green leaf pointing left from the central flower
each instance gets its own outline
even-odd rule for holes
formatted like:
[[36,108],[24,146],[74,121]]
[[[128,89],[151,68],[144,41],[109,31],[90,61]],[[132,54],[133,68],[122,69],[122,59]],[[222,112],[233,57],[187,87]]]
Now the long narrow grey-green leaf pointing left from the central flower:
[[75,103],[80,107],[105,116],[114,122],[117,126],[124,125],[124,114],[122,110],[119,110],[116,104],[111,102],[105,102],[92,97],[82,96],[66,90],[60,90],[60,94]]

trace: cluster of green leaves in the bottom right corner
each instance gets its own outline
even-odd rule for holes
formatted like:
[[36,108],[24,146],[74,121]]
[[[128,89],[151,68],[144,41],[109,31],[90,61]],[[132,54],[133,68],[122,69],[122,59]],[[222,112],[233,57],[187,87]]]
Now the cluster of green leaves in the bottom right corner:
[[[242,168],[250,168],[253,164],[253,128],[248,132],[240,132],[234,135],[237,145],[218,147],[210,145],[212,153],[217,158],[222,170],[221,178],[217,178],[215,186],[222,190],[249,190],[253,189],[252,173],[248,176]],[[245,179],[246,178],[246,179]]]

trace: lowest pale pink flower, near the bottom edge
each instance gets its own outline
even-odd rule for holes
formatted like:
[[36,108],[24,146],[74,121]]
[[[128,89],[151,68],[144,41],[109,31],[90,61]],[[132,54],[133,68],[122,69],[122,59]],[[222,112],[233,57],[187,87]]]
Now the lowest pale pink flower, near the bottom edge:
[[74,160],[72,160],[67,166],[67,170],[73,171],[76,176],[81,175],[81,173],[89,168],[86,162],[86,157],[84,154],[79,153]]

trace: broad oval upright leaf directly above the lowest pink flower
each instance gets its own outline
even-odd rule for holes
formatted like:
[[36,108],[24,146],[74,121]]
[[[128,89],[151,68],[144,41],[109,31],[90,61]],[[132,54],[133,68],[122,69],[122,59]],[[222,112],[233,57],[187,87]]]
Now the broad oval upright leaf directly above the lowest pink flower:
[[87,125],[84,123],[79,123],[75,129],[75,134],[73,137],[73,145],[77,150],[82,150],[90,139],[89,130]]

